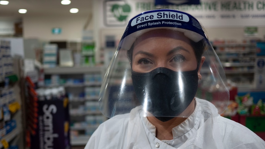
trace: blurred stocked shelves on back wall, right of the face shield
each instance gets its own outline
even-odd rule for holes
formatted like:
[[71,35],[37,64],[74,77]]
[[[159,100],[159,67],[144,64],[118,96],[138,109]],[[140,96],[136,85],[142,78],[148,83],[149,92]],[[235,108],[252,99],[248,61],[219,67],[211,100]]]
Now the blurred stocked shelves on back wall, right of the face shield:
[[227,79],[235,82],[239,90],[253,89],[255,76],[255,43],[213,44]]

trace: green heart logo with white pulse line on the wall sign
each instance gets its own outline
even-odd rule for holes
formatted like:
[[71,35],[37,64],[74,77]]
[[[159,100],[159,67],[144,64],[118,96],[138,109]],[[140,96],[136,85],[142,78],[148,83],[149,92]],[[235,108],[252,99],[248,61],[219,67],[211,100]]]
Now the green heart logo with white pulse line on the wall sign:
[[111,12],[114,14],[115,18],[122,22],[128,17],[129,13],[131,12],[131,7],[128,4],[124,4],[122,6],[114,4],[112,5]]

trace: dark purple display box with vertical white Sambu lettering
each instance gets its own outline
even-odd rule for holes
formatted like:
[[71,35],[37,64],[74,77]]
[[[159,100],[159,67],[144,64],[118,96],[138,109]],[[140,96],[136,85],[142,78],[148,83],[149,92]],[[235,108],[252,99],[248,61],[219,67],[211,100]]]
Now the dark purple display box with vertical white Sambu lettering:
[[68,100],[38,101],[38,123],[31,149],[69,149]]

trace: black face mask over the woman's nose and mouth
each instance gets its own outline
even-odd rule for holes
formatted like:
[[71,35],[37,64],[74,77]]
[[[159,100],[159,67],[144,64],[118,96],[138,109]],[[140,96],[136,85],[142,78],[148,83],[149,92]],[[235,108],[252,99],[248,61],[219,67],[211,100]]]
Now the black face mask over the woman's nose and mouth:
[[148,73],[132,71],[132,80],[140,103],[147,105],[148,112],[165,122],[180,115],[194,99],[198,88],[198,67],[180,73],[162,67]]

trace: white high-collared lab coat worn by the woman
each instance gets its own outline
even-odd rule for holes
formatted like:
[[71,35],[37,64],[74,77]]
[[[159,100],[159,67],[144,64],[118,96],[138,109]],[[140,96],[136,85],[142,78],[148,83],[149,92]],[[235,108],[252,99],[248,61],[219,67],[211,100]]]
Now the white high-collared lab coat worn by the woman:
[[220,116],[210,102],[196,98],[196,108],[172,129],[173,140],[156,138],[155,126],[140,116],[141,106],[114,116],[93,133],[85,149],[265,149],[247,127]]

